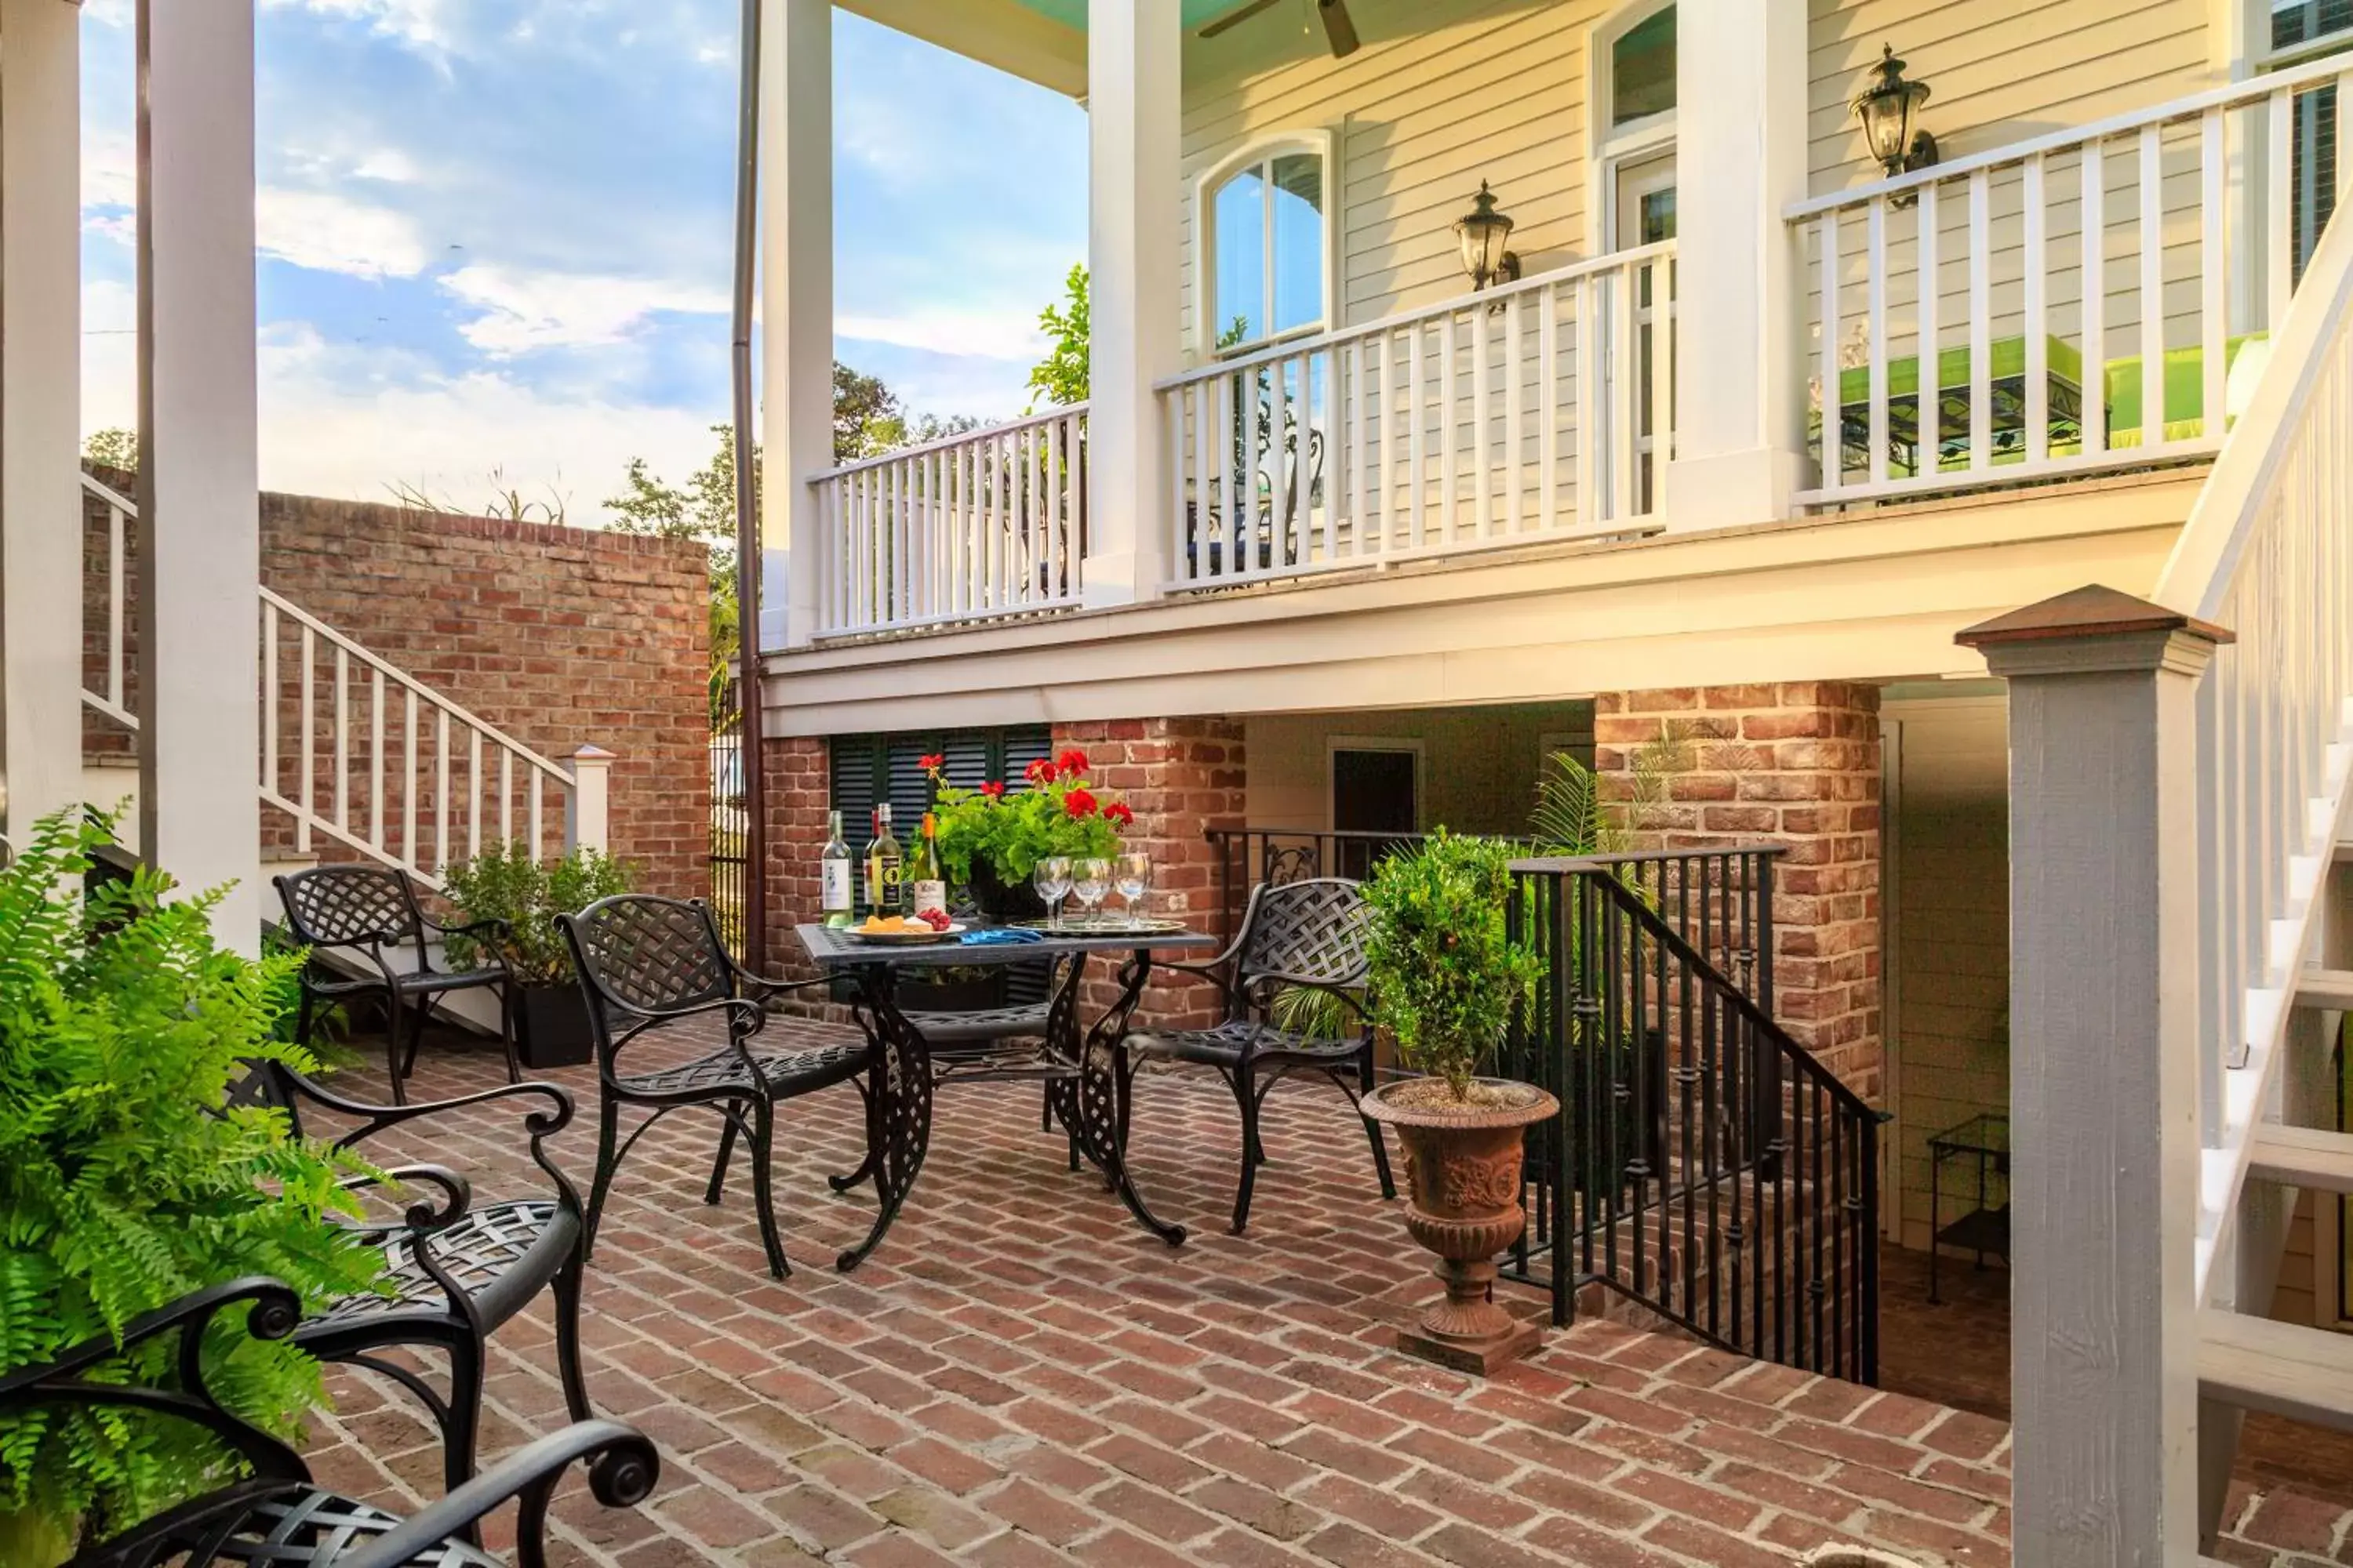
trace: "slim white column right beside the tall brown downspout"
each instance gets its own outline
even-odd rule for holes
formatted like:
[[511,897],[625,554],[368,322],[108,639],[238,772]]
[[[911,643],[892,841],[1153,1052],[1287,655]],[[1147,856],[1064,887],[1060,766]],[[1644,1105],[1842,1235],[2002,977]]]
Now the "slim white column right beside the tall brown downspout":
[[760,649],[816,632],[816,498],[833,468],[833,5],[760,14]]

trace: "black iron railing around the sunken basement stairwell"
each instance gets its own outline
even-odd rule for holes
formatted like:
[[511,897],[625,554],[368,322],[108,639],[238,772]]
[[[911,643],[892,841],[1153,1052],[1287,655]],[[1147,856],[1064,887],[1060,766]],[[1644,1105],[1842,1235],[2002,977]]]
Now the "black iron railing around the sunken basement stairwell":
[[1588,1286],[1748,1356],[1878,1378],[1878,1112],[1769,1011],[1772,851],[1522,860],[1544,957],[1504,1070],[1529,1133],[1506,1274]]

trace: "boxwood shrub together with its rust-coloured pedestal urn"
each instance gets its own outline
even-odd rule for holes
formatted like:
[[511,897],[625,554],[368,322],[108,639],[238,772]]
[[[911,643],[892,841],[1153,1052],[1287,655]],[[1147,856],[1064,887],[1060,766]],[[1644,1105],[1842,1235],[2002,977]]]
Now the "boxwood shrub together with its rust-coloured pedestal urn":
[[1541,1333],[1494,1302],[1494,1258],[1527,1227],[1525,1128],[1560,1112],[1534,1084],[1480,1077],[1537,983],[1534,950],[1511,940],[1504,919],[1511,856],[1501,839],[1440,827],[1365,884],[1372,1016],[1424,1074],[1365,1095],[1365,1114],[1405,1145],[1405,1227],[1438,1253],[1447,1286],[1398,1347],[1473,1373],[1525,1354]]

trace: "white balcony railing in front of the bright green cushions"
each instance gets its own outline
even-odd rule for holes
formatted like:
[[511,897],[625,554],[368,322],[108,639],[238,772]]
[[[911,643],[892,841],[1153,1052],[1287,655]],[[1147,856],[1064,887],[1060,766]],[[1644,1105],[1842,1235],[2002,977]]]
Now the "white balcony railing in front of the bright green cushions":
[[[1821,456],[1798,501],[2214,454],[2311,244],[2311,94],[2339,82],[2346,56],[1793,205]],[[2334,136],[2346,172],[2344,110]]]

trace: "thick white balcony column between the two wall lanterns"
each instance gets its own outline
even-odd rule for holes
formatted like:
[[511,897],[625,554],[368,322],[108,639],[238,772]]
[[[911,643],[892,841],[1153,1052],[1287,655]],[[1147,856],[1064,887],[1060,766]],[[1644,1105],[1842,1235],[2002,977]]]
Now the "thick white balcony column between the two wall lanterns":
[[[1800,277],[1805,7],[1711,0],[1675,35],[1671,529],[1788,515],[1805,454]],[[1706,21],[1706,26],[1699,26]]]

